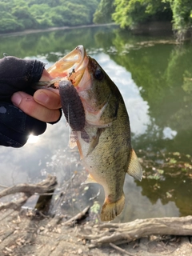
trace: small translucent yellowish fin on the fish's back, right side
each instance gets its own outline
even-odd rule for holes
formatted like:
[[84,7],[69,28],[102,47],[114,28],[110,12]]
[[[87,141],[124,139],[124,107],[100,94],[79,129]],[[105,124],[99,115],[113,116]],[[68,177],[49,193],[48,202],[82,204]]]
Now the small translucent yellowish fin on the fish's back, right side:
[[130,174],[130,176],[138,179],[141,182],[142,166],[138,162],[137,154],[135,154],[133,149],[131,150],[131,153],[130,153],[130,163],[129,163],[127,173]]

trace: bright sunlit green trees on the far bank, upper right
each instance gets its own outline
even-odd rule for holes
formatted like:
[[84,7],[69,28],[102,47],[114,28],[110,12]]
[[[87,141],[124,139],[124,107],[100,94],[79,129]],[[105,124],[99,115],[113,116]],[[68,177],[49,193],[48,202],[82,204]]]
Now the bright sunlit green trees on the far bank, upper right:
[[95,23],[114,21],[122,28],[143,22],[169,21],[178,34],[192,26],[192,0],[101,0]]

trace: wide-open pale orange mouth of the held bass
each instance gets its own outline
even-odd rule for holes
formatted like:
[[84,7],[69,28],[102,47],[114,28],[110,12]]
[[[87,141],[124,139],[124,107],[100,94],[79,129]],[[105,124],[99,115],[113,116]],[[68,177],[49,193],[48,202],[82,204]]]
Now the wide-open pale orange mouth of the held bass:
[[[73,86],[78,86],[81,81],[89,58],[84,46],[77,46],[47,70],[50,76],[58,83],[64,79],[69,80]],[[57,87],[57,85],[56,85]]]

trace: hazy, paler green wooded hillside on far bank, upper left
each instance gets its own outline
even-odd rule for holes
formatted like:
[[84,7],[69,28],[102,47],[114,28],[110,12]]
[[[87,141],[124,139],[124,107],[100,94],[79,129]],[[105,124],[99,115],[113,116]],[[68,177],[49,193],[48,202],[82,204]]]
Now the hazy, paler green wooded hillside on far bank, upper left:
[[0,33],[93,23],[100,0],[0,0]]

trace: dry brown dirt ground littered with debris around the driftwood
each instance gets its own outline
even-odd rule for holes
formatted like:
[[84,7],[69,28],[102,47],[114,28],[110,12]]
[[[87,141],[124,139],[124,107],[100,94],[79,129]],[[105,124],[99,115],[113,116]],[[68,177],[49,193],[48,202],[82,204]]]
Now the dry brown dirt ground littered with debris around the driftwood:
[[[0,251],[2,256],[191,256],[190,237],[150,236],[130,243],[97,246],[90,249],[90,241],[83,239],[83,226],[93,223],[82,221],[75,226],[66,226],[66,217],[61,222],[43,218],[32,212],[2,210],[0,215]],[[53,224],[54,223],[54,224]]]

